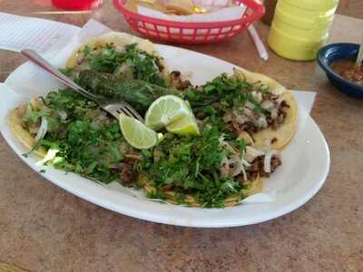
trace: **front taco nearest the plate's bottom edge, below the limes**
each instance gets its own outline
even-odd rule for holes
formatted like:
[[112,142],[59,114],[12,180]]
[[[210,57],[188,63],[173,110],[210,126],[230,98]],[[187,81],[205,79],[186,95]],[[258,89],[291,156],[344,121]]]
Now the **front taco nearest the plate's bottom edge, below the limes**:
[[152,199],[229,207],[260,192],[280,164],[279,152],[224,139],[216,127],[206,124],[199,138],[168,139],[155,147],[139,184]]

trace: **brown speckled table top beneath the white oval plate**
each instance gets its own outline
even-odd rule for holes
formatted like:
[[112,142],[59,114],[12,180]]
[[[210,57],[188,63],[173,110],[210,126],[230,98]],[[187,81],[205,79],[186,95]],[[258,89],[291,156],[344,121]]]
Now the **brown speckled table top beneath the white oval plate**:
[[[0,9],[80,26],[93,17],[132,33],[110,2],[92,13],[37,14],[53,10],[45,2],[0,0]],[[269,27],[256,28],[266,42]],[[358,43],[362,29],[363,20],[337,15],[330,42]],[[338,92],[314,62],[292,62],[272,52],[263,62],[248,34],[183,47],[265,73],[288,88],[318,92],[311,115],[329,142],[332,159],[319,193],[302,208],[259,225],[166,226],[65,192],[30,170],[0,137],[0,263],[32,272],[362,271],[363,101]],[[17,53],[0,51],[0,81],[23,62]]]

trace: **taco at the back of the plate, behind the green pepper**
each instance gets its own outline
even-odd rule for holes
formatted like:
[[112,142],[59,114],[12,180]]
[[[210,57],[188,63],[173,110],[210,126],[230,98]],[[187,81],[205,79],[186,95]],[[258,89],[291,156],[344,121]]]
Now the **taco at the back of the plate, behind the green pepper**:
[[76,49],[66,63],[73,74],[83,70],[122,74],[125,79],[138,79],[163,85],[170,73],[152,42],[131,34],[110,32],[89,39]]

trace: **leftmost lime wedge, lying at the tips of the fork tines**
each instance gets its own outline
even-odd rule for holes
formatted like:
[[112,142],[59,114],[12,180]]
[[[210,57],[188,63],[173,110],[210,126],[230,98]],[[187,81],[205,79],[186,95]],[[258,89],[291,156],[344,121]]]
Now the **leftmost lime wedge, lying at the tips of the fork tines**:
[[161,136],[146,127],[141,121],[120,114],[120,128],[123,137],[135,149],[146,150],[159,142]]

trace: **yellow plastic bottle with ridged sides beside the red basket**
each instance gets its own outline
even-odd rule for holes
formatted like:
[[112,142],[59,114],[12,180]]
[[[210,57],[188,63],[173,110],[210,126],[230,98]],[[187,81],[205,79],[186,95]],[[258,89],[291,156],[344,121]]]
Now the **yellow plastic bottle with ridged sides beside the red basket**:
[[338,0],[279,0],[268,43],[280,56],[314,60],[326,43]]

